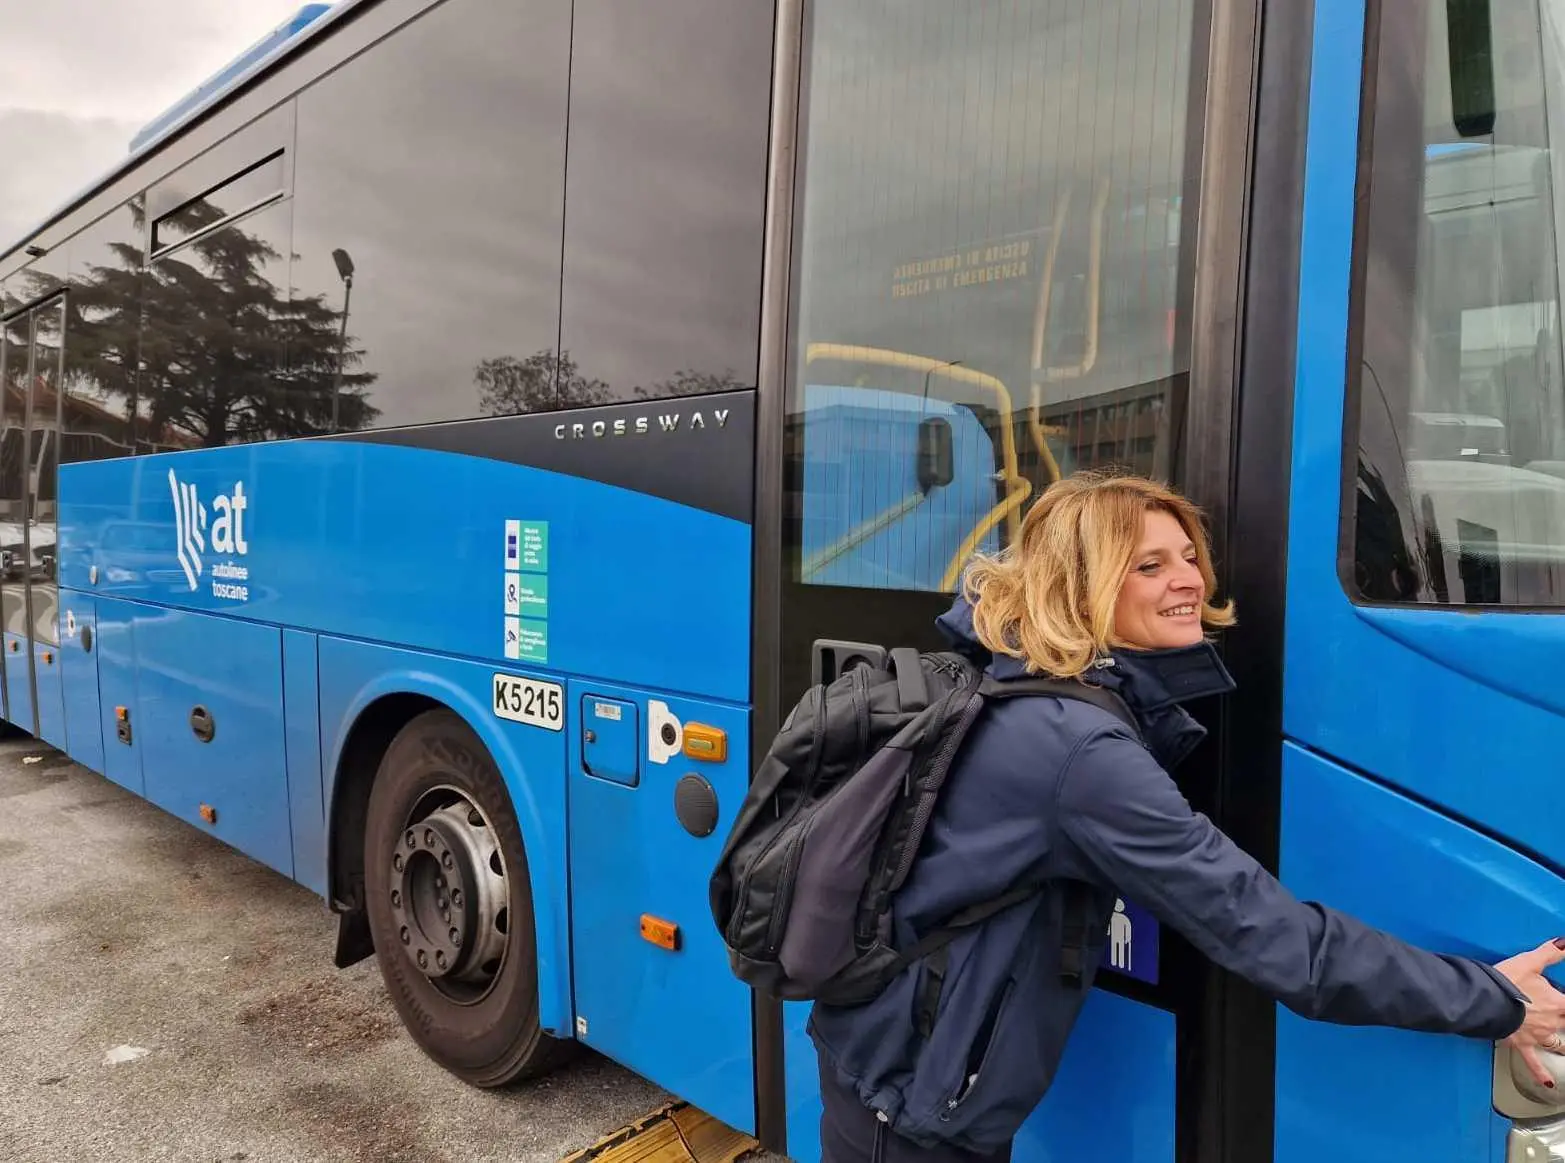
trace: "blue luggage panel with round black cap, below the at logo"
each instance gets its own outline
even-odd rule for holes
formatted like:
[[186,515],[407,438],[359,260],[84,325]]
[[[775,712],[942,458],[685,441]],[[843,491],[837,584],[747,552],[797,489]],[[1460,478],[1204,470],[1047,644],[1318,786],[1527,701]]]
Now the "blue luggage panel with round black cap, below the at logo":
[[282,631],[147,606],[136,668],[147,798],[293,877]]

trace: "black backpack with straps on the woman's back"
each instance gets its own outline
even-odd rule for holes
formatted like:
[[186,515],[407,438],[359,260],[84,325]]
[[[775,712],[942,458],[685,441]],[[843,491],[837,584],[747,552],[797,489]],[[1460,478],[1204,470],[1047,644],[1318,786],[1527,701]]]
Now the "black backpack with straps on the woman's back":
[[[782,1000],[861,1005],[903,969],[1036,894],[1024,880],[892,947],[890,902],[912,869],[956,748],[989,700],[1092,703],[1141,737],[1116,693],[1075,679],[997,682],[961,654],[892,650],[812,687],[761,761],[711,880],[732,972]],[[1063,970],[1080,977],[1091,897],[1067,883]]]

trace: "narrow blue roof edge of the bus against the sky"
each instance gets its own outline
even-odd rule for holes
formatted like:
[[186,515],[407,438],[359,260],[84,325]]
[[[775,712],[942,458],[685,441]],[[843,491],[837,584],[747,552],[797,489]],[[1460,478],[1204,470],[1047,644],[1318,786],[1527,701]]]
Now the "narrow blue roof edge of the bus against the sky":
[[130,171],[138,161],[152,153],[158,149],[158,146],[164,144],[182,128],[186,128],[203,114],[222,105],[228,97],[272,66],[279,64],[283,58],[294,55],[346,13],[371,2],[372,0],[335,0],[335,3],[307,3],[299,8],[299,11],[296,11],[291,17],[283,20],[272,31],[266,33],[266,36],[247,47],[222,66],[222,69],[214,72],[167,110],[147,122],[136,133],[136,136],[130,139],[127,155],[121,158],[121,161],[108,172],[100,174],[89,185],[83,186],[69,199],[61,202],[49,213],[47,218],[38,222],[31,230],[27,230],[20,238],[9,241],[0,239],[0,260],[13,255],[28,239],[52,227],[67,213],[75,210],[81,202],[92,197],[92,194],[99,189]]

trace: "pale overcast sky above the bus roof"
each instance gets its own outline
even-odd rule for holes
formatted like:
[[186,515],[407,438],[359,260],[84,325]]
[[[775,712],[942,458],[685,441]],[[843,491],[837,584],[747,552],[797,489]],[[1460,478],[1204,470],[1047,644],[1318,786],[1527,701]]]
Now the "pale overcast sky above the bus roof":
[[0,249],[304,0],[0,0]]

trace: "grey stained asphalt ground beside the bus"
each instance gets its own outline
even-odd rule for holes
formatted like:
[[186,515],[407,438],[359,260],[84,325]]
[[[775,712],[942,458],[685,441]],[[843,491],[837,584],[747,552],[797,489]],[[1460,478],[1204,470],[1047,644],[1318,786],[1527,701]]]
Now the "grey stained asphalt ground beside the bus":
[[0,742],[0,1160],[559,1160],[667,1096],[590,1053],[479,1091],[332,966],[307,889]]

